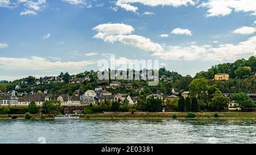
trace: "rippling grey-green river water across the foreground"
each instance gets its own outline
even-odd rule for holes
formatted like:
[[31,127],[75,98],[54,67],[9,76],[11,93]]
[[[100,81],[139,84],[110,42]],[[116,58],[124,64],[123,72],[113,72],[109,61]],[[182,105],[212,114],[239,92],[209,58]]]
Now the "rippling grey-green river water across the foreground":
[[256,143],[256,119],[1,120],[0,143]]

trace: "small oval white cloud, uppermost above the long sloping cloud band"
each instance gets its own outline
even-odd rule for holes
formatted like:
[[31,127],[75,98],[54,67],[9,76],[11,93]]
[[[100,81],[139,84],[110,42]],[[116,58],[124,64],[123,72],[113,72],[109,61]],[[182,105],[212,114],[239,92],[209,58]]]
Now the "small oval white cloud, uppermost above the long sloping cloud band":
[[[126,25],[126,24],[100,24],[93,28],[93,30],[96,30],[98,32],[103,33],[104,35],[127,35],[134,31],[134,28],[132,26]],[[102,34],[100,34],[102,35]],[[103,37],[103,36],[101,36]]]

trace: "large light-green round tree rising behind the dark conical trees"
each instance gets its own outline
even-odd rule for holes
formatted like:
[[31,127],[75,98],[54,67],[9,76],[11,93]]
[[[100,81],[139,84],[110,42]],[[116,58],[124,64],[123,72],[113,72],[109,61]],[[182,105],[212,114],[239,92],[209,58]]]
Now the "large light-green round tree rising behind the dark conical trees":
[[208,81],[205,78],[196,78],[189,85],[189,93],[193,96],[205,93],[208,90]]

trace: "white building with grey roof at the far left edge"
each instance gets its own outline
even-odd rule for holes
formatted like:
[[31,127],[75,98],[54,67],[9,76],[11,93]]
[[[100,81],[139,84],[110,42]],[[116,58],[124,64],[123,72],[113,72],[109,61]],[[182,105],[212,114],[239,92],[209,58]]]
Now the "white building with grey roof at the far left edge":
[[0,93],[0,106],[18,106],[18,98],[11,93]]

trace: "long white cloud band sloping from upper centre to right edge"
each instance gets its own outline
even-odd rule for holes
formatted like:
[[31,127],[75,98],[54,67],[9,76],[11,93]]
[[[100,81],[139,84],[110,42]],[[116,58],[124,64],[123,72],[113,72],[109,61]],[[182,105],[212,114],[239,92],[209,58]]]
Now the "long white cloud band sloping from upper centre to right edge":
[[[108,28],[106,28],[108,30]],[[101,30],[102,32],[104,30]],[[102,33],[98,31],[98,33]],[[114,31],[114,30],[112,30]],[[119,32],[119,31],[118,31]],[[122,33],[122,32],[119,32]],[[126,34],[126,33],[124,33]],[[124,45],[137,47],[143,51],[150,52],[163,60],[214,60],[214,61],[234,61],[237,58],[256,55],[256,36],[238,44],[220,44],[216,48],[212,45],[191,45],[185,46],[162,46],[152,42],[150,39],[139,35],[96,35],[94,38],[102,39],[109,43],[119,42]]]

